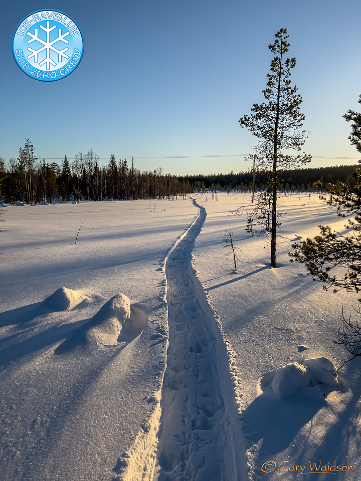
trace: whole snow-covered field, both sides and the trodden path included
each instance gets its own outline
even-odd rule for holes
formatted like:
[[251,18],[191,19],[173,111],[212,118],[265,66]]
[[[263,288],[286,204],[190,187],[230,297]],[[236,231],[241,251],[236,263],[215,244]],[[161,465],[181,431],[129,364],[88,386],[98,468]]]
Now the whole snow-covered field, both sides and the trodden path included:
[[347,359],[333,340],[356,296],[325,292],[287,255],[345,219],[316,194],[280,196],[271,269],[265,234],[229,216],[248,196],[195,199],[9,206],[1,480],[323,480],[333,464],[360,479],[361,364],[336,381],[327,362]]

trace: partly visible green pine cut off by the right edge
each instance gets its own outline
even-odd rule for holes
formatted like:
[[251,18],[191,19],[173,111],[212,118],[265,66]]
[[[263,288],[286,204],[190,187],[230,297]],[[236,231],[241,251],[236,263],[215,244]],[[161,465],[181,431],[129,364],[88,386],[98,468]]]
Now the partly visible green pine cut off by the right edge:
[[[358,102],[361,103],[361,100]],[[361,114],[349,110],[343,118],[347,122],[351,120],[354,122],[348,139],[361,152]],[[315,280],[323,282],[326,285],[324,289],[333,287],[334,292],[345,289],[359,293],[361,291],[361,168],[356,168],[350,177],[349,184],[342,182],[328,184],[330,199],[327,201],[328,204],[337,207],[338,216],[351,216],[345,225],[350,231],[341,234],[332,231],[328,225],[319,225],[320,235],[316,235],[313,240],[307,238],[301,244],[293,244],[295,252],[289,255],[291,262],[297,261],[304,264]],[[317,186],[325,188],[322,182],[318,182]],[[336,270],[335,274],[332,269]],[[361,302],[361,299],[358,301]],[[360,309],[355,311],[361,316]],[[354,357],[361,356],[361,325],[351,321],[351,317],[346,319],[343,309],[342,328],[338,330],[337,338],[338,341],[335,343],[342,344],[352,355],[342,366]]]

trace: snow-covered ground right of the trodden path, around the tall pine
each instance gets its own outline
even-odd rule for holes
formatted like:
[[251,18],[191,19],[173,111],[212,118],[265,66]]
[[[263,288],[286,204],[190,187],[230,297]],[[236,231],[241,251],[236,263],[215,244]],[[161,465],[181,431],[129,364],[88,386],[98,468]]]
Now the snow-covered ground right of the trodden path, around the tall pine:
[[[340,359],[347,359],[348,353],[333,340],[342,324],[342,305],[345,313],[352,313],[351,306],[357,306],[358,296],[325,292],[301,264],[290,263],[287,254],[294,242],[319,233],[319,224],[342,232],[346,221],[337,217],[335,209],[320,201],[317,194],[310,198],[308,194],[280,196],[284,218],[278,233],[282,237],[277,267],[271,269],[265,235],[251,237],[245,231],[246,212],[229,216],[229,211],[239,205],[250,205],[249,196],[232,193],[218,197],[218,202],[212,201],[210,195],[198,200],[207,209],[207,219],[197,239],[194,265],[237,355],[234,359],[231,353],[230,360],[235,362],[237,387],[242,394],[238,405],[244,423],[249,479],[259,476],[273,481],[284,478],[286,473],[288,479],[296,479],[301,471],[298,467],[293,472],[296,466],[302,466],[304,472],[315,472],[316,463],[320,472],[323,466],[327,471],[336,461],[334,469],[341,467],[333,477],[358,480],[359,358],[340,371],[338,385],[334,385],[329,371],[324,371],[316,376],[322,384],[297,390],[305,384],[299,369],[294,369],[293,374],[285,370],[278,374],[283,386],[296,389],[293,395],[280,398],[277,389],[270,387],[275,371],[286,364],[305,365],[307,359],[326,358],[338,367]],[[233,231],[235,245],[241,249],[238,255],[243,263],[238,272],[234,272],[231,257],[225,256],[220,245],[225,229]],[[314,366],[313,371],[317,370],[319,366]],[[264,470],[276,468],[262,472],[267,461],[271,462]],[[353,470],[344,466],[352,466]],[[342,467],[347,470],[342,472]],[[318,474],[318,479],[327,476]]]

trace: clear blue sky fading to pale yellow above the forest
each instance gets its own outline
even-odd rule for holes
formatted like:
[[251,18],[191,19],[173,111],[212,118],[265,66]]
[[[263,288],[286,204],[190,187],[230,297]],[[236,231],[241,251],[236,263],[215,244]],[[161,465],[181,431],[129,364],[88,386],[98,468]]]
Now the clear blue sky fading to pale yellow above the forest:
[[[18,0],[1,7],[0,156],[29,138],[42,159],[93,149],[172,174],[246,170],[254,137],[237,120],[262,102],[274,34],[287,28],[303,97],[309,167],[359,157],[342,115],[360,110],[360,0]],[[79,25],[84,56],[57,82],[25,75],[18,24],[54,9]],[[240,154],[236,156],[236,154]],[[227,157],[162,158],[225,155]],[[140,158],[155,157],[155,158]],[[327,158],[328,157],[328,158]],[[329,158],[342,157],[342,158]],[[355,160],[353,160],[355,159]],[[59,160],[61,162],[61,160]]]

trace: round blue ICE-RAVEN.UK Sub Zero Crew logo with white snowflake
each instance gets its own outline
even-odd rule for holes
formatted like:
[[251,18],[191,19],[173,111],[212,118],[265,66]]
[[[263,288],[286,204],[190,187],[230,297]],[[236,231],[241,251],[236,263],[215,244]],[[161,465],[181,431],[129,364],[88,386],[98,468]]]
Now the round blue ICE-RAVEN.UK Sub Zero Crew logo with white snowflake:
[[40,10],[20,22],[13,36],[16,63],[29,77],[60,80],[78,67],[84,51],[83,35],[69,16]]

